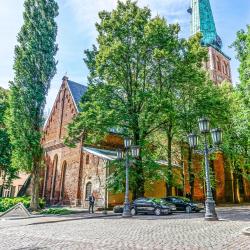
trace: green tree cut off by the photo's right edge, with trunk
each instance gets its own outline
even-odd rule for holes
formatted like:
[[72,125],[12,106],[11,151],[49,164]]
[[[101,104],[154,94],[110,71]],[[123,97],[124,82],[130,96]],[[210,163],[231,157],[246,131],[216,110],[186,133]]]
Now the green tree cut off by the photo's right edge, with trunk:
[[[224,151],[233,172],[234,202],[240,202],[239,185],[250,180],[250,26],[240,30],[232,45],[240,61],[240,82],[228,91],[230,100],[230,121],[226,126]],[[242,183],[241,183],[242,185]],[[243,185],[243,188],[244,185]]]

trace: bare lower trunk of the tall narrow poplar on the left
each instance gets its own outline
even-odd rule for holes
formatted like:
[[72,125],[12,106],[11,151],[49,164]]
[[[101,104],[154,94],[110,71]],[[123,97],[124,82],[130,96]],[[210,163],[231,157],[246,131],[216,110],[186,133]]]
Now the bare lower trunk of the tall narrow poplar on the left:
[[40,184],[40,162],[34,163],[34,169],[32,172],[32,190],[30,209],[36,211],[39,209],[39,184]]

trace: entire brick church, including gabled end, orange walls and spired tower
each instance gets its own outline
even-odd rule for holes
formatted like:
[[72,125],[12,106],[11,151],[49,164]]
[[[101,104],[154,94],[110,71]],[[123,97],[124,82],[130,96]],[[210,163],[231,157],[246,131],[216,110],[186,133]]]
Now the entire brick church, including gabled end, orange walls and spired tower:
[[[203,34],[202,45],[208,48],[209,60],[204,63],[210,78],[219,85],[224,80],[232,82],[230,58],[222,52],[221,39],[215,28],[213,14],[209,0],[191,0],[191,34],[201,32]],[[56,97],[55,103],[44,126],[42,145],[45,151],[45,168],[43,173],[42,196],[50,204],[70,204],[87,206],[88,196],[94,192],[97,198],[97,206],[121,204],[123,194],[112,194],[106,190],[106,178],[109,175],[107,164],[116,158],[115,149],[123,143],[122,138],[115,133],[110,135],[102,143],[102,148],[85,146],[79,142],[75,148],[64,145],[64,137],[67,134],[67,125],[79,112],[79,102],[86,92],[87,87],[63,77],[62,85]],[[164,166],[164,161],[161,161]],[[200,171],[201,160],[194,161],[194,169]],[[174,172],[185,174],[187,161],[182,167],[175,166]],[[215,200],[217,202],[232,202],[234,196],[232,173],[224,166],[222,154],[217,154],[213,161],[213,169],[216,179]],[[187,183],[186,181],[185,183]],[[250,200],[250,183],[241,180],[239,190],[242,200]],[[195,178],[194,199],[204,200],[204,190],[201,181]],[[185,191],[190,192],[189,185],[185,185]],[[173,188],[173,193],[178,195],[181,191]],[[150,190],[146,190],[145,196],[164,197],[166,185],[162,182],[152,184]]]

